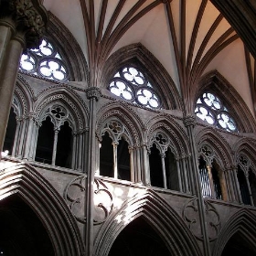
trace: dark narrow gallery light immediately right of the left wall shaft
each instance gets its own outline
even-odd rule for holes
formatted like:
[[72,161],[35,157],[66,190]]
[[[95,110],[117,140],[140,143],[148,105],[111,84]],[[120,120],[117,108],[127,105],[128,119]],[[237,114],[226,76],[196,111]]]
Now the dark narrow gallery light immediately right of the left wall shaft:
[[100,149],[100,175],[113,177],[113,148],[109,133],[102,136]]

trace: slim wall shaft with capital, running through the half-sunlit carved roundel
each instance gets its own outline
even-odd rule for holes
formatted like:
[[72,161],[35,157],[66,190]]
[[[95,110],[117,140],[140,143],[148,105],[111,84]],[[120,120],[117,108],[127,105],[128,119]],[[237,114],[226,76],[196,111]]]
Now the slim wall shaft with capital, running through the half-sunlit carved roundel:
[[89,117],[89,154],[87,165],[86,179],[86,202],[85,202],[85,244],[86,255],[91,256],[93,250],[93,182],[96,172],[96,101],[98,101],[101,91],[96,87],[91,87],[87,91],[87,98],[90,101],[90,117]]

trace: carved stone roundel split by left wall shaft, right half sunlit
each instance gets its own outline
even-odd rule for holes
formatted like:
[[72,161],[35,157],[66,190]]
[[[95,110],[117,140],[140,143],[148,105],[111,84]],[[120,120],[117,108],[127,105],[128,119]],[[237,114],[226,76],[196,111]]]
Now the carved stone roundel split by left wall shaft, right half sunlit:
[[[85,199],[87,176],[78,176],[73,179],[64,191],[64,198],[74,217],[80,223],[86,223]],[[94,219],[93,224],[104,222],[112,213],[112,194],[108,187],[100,180],[95,179],[93,184]]]

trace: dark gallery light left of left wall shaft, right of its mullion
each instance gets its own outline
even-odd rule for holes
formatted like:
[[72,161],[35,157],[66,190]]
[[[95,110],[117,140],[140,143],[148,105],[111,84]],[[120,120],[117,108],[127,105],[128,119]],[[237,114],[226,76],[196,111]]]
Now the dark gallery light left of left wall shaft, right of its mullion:
[[56,165],[70,168],[72,160],[72,130],[69,123],[60,126],[58,133]]

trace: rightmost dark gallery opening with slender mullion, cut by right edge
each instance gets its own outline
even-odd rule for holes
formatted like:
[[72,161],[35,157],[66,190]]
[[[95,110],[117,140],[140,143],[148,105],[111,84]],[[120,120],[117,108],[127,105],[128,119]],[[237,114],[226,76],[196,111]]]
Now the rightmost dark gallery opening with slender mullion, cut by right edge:
[[238,181],[240,186],[241,200],[245,205],[255,205],[256,201],[256,178],[251,161],[246,155],[240,154],[238,159]]

